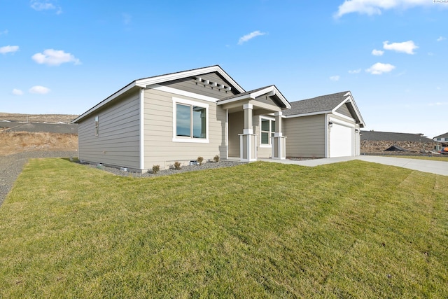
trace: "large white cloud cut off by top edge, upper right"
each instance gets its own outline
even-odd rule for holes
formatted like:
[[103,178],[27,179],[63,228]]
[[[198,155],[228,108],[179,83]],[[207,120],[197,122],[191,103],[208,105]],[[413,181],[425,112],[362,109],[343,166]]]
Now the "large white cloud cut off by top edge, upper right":
[[347,13],[365,15],[381,15],[381,11],[393,8],[406,9],[413,6],[429,6],[430,0],[345,0],[337,9],[335,18],[341,18]]

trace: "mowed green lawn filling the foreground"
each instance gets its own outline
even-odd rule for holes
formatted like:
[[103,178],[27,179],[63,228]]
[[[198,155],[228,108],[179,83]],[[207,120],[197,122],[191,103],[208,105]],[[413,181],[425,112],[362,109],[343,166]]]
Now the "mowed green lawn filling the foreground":
[[447,244],[448,176],[31,160],[0,207],[0,298],[444,298]]

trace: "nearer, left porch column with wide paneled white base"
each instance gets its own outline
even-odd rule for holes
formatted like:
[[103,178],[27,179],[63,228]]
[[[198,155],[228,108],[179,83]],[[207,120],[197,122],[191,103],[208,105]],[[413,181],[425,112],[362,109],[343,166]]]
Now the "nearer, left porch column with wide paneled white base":
[[252,104],[244,104],[244,130],[239,134],[239,159],[241,162],[251,162],[257,160],[257,135],[252,129]]

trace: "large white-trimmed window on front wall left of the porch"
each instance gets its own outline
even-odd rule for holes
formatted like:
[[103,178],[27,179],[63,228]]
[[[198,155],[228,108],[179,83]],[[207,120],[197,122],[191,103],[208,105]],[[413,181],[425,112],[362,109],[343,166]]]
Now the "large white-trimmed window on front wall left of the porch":
[[178,142],[208,142],[208,104],[173,99],[174,138]]

